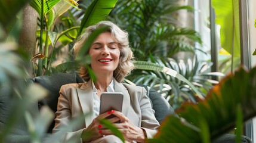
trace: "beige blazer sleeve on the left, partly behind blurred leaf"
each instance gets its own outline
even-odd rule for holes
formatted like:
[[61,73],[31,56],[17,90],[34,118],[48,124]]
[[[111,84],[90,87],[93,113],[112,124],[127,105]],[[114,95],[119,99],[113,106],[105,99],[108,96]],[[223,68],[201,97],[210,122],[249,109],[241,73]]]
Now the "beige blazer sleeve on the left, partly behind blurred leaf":
[[[60,97],[58,97],[57,111],[55,113],[55,126],[53,133],[58,136],[58,138],[63,139],[62,142],[82,142],[81,135],[83,129],[73,131],[72,126],[70,126],[70,120],[72,119],[71,114],[71,94],[72,86],[61,86]],[[62,136],[61,136],[62,135]],[[61,137],[60,137],[61,136]]]

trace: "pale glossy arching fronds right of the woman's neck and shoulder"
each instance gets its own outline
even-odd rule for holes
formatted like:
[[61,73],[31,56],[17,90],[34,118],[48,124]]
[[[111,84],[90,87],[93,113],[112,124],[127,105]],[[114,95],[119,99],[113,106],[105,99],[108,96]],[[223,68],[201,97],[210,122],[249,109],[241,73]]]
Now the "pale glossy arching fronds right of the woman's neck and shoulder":
[[[151,62],[138,61],[135,63],[137,71],[132,73],[128,79],[132,79],[131,81],[135,84],[155,88],[175,109],[179,108],[185,101],[196,103],[198,98],[205,98],[212,85],[218,83],[211,77],[224,76],[220,72],[210,72],[209,68],[212,63],[199,63],[196,57],[193,60],[189,58],[187,61],[152,57]],[[153,66],[151,69],[146,68],[149,64]],[[165,70],[158,70],[157,67]]]

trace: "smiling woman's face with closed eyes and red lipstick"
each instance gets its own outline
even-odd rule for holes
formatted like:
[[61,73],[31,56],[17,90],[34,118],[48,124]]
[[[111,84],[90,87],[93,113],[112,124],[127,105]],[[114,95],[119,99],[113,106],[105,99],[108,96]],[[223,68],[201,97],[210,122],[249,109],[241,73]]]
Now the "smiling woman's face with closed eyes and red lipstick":
[[91,55],[91,68],[95,73],[113,75],[113,71],[118,67],[120,49],[110,32],[101,33],[95,39],[89,54]]

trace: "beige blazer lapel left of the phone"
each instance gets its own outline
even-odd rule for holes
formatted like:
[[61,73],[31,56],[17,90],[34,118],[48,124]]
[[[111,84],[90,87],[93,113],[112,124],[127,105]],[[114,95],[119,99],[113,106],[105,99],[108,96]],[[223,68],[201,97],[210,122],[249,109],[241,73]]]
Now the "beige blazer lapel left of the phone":
[[85,115],[85,127],[90,125],[93,120],[91,116],[93,114],[93,92],[91,87],[91,80],[89,80],[76,89],[82,111]]

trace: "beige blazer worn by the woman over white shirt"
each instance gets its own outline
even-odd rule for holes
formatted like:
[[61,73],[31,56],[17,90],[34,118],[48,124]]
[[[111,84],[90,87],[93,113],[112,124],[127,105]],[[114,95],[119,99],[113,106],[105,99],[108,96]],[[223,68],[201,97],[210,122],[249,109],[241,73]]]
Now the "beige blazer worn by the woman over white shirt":
[[[114,79],[115,80],[115,79]],[[124,94],[122,113],[135,125],[144,128],[148,138],[152,138],[157,132],[159,123],[155,118],[146,90],[141,86],[119,83],[115,80],[115,92]],[[92,113],[93,93],[91,81],[87,83],[71,83],[61,86],[58,98],[57,112],[55,113],[55,126],[53,133],[61,131],[61,127],[69,125],[69,121],[81,116],[81,114]],[[85,116],[84,123],[78,128],[70,129],[65,139],[79,139],[84,128],[92,122],[91,116]]]

